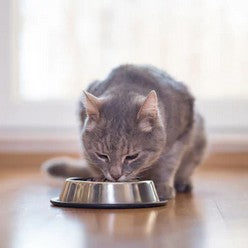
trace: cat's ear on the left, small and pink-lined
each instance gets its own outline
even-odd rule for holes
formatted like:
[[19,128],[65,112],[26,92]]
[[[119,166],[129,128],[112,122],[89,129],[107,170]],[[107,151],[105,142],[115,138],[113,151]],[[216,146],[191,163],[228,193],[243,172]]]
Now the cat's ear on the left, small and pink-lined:
[[83,92],[83,104],[86,108],[86,113],[91,119],[97,121],[100,117],[100,107],[102,105],[102,102],[98,97],[90,94],[89,92]]

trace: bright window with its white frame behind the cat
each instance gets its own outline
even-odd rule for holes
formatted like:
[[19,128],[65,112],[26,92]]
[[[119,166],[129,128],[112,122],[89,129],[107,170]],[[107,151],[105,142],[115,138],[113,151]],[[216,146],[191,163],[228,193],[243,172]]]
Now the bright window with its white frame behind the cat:
[[0,127],[76,127],[76,100],[120,63],[186,82],[213,133],[248,127],[245,0],[2,1]]

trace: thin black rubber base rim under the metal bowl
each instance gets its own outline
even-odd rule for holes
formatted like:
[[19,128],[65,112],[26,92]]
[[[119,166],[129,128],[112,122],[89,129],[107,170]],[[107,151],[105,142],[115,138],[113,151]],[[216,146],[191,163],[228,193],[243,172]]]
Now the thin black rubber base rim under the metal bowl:
[[59,198],[52,198],[50,202],[56,207],[67,208],[150,208],[164,206],[167,201],[151,202],[151,203],[121,203],[121,204],[92,204],[92,203],[73,203],[73,202],[61,202]]

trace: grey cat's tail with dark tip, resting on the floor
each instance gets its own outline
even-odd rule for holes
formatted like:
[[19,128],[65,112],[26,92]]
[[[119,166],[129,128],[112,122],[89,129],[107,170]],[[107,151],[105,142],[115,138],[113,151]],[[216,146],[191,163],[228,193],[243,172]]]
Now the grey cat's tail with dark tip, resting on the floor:
[[42,174],[52,184],[61,184],[68,177],[91,178],[98,175],[94,168],[83,159],[57,157],[45,161],[41,165]]

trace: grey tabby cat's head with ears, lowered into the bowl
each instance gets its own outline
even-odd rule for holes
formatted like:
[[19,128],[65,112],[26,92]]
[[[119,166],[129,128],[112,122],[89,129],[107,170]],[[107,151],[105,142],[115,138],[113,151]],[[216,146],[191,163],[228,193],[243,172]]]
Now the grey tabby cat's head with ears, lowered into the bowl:
[[131,181],[159,158],[166,134],[153,90],[147,97],[98,98],[84,92],[85,157],[110,181]]

